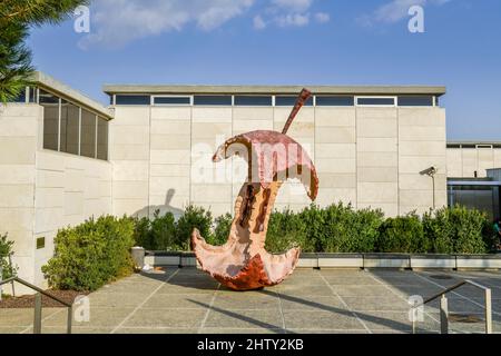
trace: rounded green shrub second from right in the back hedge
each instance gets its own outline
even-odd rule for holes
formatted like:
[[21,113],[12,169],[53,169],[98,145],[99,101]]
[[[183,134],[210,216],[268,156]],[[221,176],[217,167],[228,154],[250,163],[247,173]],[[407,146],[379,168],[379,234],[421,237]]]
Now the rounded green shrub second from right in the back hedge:
[[380,227],[376,243],[379,253],[420,254],[429,250],[423,224],[415,212],[387,218]]

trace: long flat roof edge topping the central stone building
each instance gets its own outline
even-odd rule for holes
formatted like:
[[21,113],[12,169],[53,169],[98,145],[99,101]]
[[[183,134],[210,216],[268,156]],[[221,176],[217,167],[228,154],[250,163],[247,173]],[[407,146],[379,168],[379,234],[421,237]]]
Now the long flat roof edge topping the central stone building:
[[314,95],[434,95],[440,86],[207,86],[207,85],[105,85],[106,93],[198,93],[198,95],[297,95],[308,88]]

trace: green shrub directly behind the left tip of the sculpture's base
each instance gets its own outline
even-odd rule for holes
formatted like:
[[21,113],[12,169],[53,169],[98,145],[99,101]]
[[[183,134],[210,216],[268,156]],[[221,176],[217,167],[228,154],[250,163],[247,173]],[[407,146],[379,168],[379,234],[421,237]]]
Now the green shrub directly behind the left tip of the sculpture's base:
[[189,249],[189,239],[194,228],[197,228],[204,238],[210,240],[212,225],[210,211],[193,205],[188,206],[176,224],[176,247],[184,250]]

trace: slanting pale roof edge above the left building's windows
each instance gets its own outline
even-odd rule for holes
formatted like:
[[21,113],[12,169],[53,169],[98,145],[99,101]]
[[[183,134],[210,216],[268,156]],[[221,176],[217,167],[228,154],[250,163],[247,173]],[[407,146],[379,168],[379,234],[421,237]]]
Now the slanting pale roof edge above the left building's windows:
[[73,101],[75,103],[91,109],[92,111],[96,111],[96,113],[104,116],[109,120],[114,118],[112,111],[104,107],[100,102],[90,99],[80,91],[68,87],[67,85],[41,71],[36,71],[31,80],[41,89],[49,90],[56,95],[69,99],[70,101]]

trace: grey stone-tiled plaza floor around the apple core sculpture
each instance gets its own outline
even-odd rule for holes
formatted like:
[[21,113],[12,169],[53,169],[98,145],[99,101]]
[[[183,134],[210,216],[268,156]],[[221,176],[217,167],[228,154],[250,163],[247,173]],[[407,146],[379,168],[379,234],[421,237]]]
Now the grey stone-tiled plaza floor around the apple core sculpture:
[[[485,271],[297,269],[282,285],[232,291],[195,268],[132,275],[89,296],[89,322],[73,333],[411,333],[409,297],[424,298],[462,279],[492,288],[493,330],[501,333],[501,275]],[[452,333],[483,333],[483,294],[448,295]],[[440,330],[439,301],[419,333]],[[65,333],[67,309],[45,308],[42,333]],[[32,333],[32,309],[0,309],[0,333]]]

